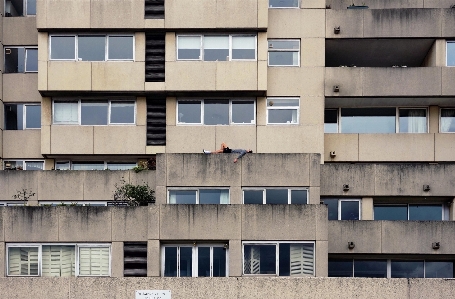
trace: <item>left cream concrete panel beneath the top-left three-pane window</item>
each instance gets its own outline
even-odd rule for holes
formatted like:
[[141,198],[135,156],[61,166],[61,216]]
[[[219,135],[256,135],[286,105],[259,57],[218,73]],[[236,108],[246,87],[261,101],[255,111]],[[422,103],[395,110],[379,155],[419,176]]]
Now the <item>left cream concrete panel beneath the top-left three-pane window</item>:
[[92,63],[86,61],[49,61],[47,79],[48,90],[91,90]]

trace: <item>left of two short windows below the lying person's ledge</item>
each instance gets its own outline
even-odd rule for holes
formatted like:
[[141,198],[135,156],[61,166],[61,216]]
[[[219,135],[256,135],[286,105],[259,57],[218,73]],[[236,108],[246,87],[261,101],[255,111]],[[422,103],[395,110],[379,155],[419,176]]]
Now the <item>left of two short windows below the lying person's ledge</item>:
[[170,204],[229,204],[229,189],[170,189]]

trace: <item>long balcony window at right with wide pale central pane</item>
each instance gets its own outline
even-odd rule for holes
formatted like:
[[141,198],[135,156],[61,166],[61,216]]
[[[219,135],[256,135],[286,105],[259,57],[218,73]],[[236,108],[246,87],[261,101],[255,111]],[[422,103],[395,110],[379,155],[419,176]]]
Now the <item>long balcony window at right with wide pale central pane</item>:
[[426,108],[326,109],[324,116],[325,133],[427,133],[427,127]]

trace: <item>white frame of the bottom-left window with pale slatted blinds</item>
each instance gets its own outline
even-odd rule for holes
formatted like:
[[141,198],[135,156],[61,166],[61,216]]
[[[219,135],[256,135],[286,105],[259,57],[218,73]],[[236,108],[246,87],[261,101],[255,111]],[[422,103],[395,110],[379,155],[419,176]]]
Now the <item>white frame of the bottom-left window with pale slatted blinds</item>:
[[[74,277],[110,277],[112,276],[112,246],[110,243],[7,243],[6,244],[6,276],[8,277],[41,277],[42,276],[42,247],[43,246],[74,246],[75,248],[75,272]],[[38,275],[10,275],[9,274],[9,248],[37,247],[38,248]],[[109,274],[108,275],[80,275],[79,274],[79,249],[103,247],[109,248]]]

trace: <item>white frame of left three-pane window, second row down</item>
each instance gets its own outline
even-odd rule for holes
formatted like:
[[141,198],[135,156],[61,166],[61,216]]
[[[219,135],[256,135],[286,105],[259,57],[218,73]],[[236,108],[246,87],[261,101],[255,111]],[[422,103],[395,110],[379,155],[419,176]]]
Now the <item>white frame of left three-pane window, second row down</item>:
[[[81,111],[82,111],[82,101],[89,101],[93,100],[93,102],[107,102],[107,124],[105,125],[82,125],[81,124]],[[55,112],[55,101],[57,102],[68,102],[68,103],[75,103],[77,102],[77,123],[76,122],[59,122],[56,123],[54,119],[54,112]],[[132,123],[111,123],[111,108],[112,102],[133,102],[134,104],[134,121]],[[60,126],[60,125],[78,125],[78,126],[135,126],[137,122],[137,100],[126,98],[126,99],[62,99],[62,98],[54,98],[52,99],[52,125]]]

